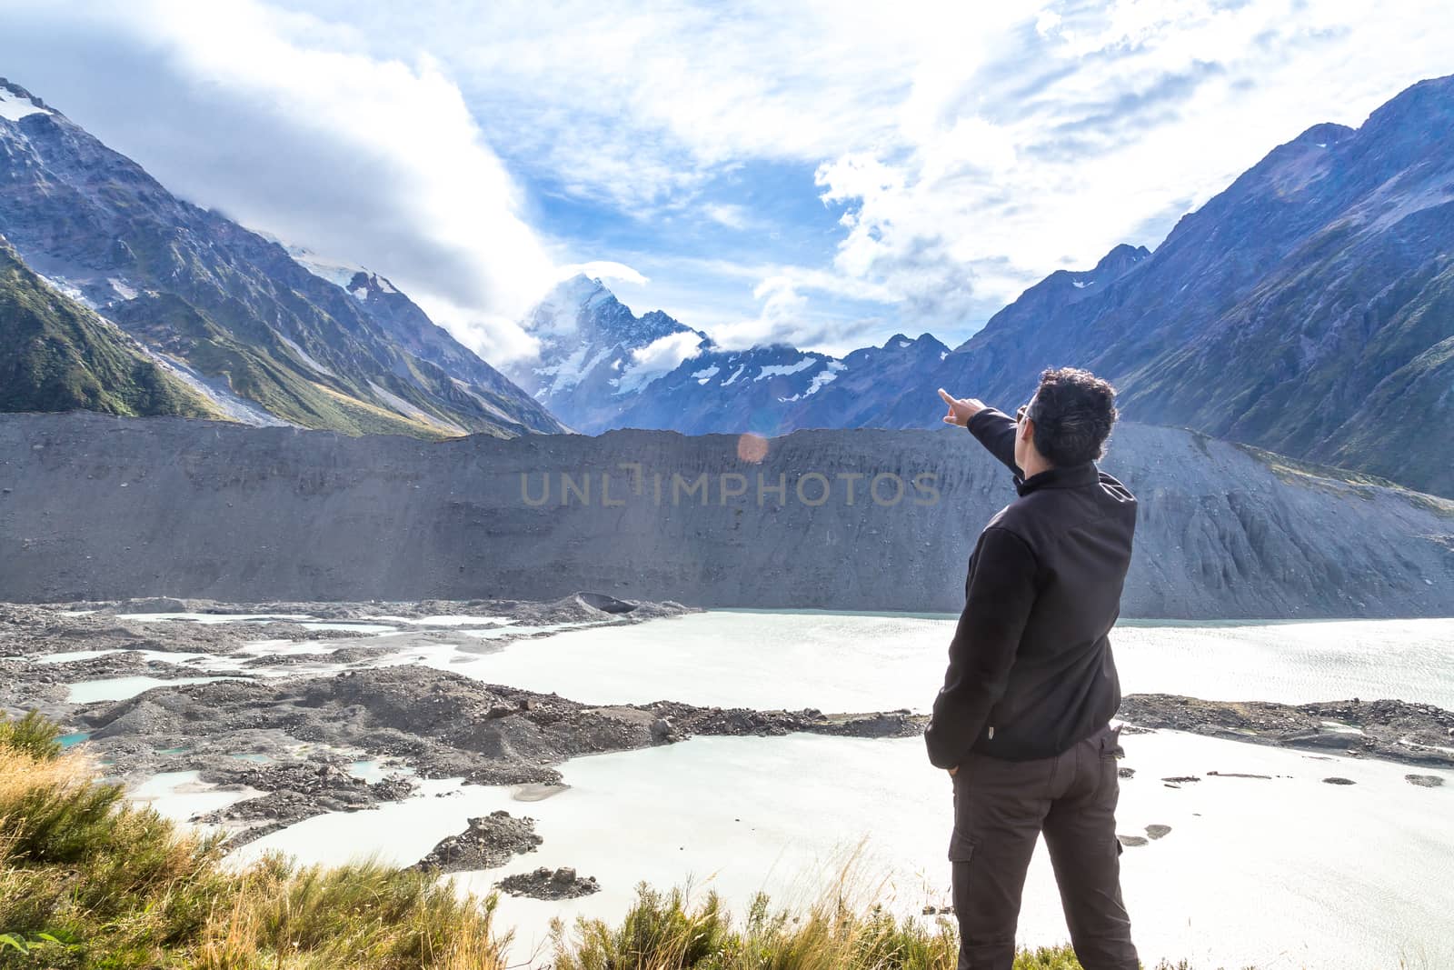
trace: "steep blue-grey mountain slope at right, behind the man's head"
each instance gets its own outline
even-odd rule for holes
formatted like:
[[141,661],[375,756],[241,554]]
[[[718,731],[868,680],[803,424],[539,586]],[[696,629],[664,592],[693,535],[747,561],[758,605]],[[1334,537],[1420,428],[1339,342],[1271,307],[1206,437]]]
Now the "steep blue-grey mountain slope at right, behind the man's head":
[[1013,406],[1043,366],[1079,365],[1128,417],[1454,494],[1451,268],[1454,79],[1438,79],[1357,131],[1274,148],[1089,295],[1031,288],[868,420],[932,423],[941,384]]

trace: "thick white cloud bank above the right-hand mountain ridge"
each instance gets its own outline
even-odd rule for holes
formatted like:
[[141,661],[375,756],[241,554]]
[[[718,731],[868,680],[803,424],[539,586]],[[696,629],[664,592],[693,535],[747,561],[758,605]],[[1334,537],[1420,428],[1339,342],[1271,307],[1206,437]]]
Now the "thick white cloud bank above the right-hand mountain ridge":
[[851,205],[835,265],[938,329],[1115,243],[1154,246],[1274,145],[1447,71],[1454,29],[1400,6],[1038,12],[1038,58],[1011,29],[961,84],[936,79],[909,137],[820,164],[824,201]]

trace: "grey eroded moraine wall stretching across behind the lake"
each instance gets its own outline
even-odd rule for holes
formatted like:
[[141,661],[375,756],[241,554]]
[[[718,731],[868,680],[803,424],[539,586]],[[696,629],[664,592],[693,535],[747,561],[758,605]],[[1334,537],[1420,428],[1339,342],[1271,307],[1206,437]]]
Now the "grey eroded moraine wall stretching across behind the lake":
[[[547,599],[957,611],[1011,474],[965,432],[422,442],[0,417],[0,599]],[[1454,615],[1454,502],[1122,425],[1122,614]],[[781,489],[781,490],[779,490]]]

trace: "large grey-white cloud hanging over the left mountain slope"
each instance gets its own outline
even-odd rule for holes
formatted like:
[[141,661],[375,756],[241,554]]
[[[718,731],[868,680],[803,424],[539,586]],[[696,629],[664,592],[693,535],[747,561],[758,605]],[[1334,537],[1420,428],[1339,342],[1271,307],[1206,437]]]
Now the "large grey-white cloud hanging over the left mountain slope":
[[[167,188],[326,259],[379,268],[487,356],[523,346],[513,320],[553,260],[432,58],[374,57],[346,28],[252,0],[23,3],[6,20],[7,64],[25,64],[28,32],[47,38],[47,58],[84,60],[97,38],[113,48],[102,57],[135,58],[116,86],[95,70],[83,89],[42,65],[16,76]],[[137,87],[150,103],[134,103]]]

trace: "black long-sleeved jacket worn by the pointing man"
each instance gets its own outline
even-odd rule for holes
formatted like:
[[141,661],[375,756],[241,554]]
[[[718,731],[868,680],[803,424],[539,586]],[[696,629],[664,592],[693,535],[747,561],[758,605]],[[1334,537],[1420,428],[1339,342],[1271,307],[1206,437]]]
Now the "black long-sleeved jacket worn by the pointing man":
[[1136,497],[1093,461],[1024,478],[1015,420],[993,407],[968,429],[1015,473],[1019,499],[990,519],[970,556],[964,614],[925,731],[938,768],[970,750],[1051,758],[1121,705],[1106,634],[1121,612]]

